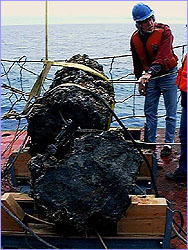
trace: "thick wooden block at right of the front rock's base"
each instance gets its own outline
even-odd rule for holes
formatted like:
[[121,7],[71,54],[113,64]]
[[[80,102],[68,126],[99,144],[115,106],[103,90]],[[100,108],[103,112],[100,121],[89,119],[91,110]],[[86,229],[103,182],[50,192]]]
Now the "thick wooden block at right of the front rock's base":
[[158,235],[165,233],[167,202],[153,195],[131,196],[131,205],[117,224],[118,235]]

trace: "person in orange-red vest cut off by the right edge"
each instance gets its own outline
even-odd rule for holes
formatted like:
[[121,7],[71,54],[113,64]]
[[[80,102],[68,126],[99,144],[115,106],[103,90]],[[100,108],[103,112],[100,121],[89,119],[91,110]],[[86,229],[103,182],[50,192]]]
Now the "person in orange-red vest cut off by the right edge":
[[187,180],[187,53],[184,57],[181,68],[178,70],[176,84],[181,90],[182,114],[180,121],[179,137],[181,142],[181,155],[179,167],[174,173],[167,173],[166,179],[172,181]]

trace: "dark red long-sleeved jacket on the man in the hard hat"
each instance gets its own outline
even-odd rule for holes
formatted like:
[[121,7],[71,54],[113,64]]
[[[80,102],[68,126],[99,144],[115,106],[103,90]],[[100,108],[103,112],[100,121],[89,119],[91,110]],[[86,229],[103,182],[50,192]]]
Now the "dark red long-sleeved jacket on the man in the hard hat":
[[[159,39],[156,38],[157,44],[153,44],[154,45],[153,47],[156,49],[154,51],[155,56],[153,56],[153,55],[151,56],[150,51],[149,51],[149,53],[147,51],[147,54],[148,54],[148,55],[146,55],[147,58],[150,54],[150,56],[149,56],[150,58],[148,58],[148,65],[144,65],[145,62],[142,59],[142,57],[140,55],[138,55],[138,48],[135,47],[135,39],[134,38],[135,38],[135,33],[137,31],[134,32],[132,37],[131,37],[131,51],[132,51],[132,56],[133,56],[134,74],[137,77],[141,76],[144,70],[146,71],[150,66],[152,66],[154,64],[160,64],[162,66],[161,67],[162,73],[167,71],[169,68],[167,65],[167,62],[169,62],[169,60],[171,60],[172,56],[174,58],[174,63],[172,64],[172,66],[175,67],[177,65],[178,58],[176,55],[174,55],[173,50],[172,50],[173,35],[171,33],[169,26],[161,24],[161,23],[156,23],[155,30],[163,30],[163,32],[161,32],[160,41],[157,41]],[[149,34],[147,39],[149,39],[150,36],[153,36],[152,34],[153,33]],[[141,39],[143,46],[146,47],[146,40],[144,39],[144,37],[139,35],[139,38]],[[153,39],[151,39],[151,40],[153,40]]]

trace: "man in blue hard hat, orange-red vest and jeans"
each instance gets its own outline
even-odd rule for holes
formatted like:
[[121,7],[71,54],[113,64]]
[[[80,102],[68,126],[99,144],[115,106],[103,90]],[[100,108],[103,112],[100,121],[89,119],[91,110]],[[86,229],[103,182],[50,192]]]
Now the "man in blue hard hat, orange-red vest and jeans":
[[[155,143],[158,123],[158,104],[161,94],[166,108],[165,144],[161,156],[171,154],[177,115],[178,58],[172,49],[173,35],[166,24],[156,23],[153,10],[138,3],[132,10],[137,30],[132,34],[130,46],[134,74],[139,79],[139,93],[145,95],[145,141]],[[142,75],[144,72],[144,75]],[[147,88],[146,88],[147,87]],[[155,149],[150,146],[149,148]]]

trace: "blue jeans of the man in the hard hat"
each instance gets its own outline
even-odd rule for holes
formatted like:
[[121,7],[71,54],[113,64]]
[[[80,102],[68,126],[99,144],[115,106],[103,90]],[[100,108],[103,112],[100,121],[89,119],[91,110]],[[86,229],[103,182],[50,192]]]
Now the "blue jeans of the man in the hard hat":
[[[170,72],[176,72],[173,68]],[[146,142],[156,142],[157,116],[160,95],[163,94],[166,109],[165,142],[174,142],[177,114],[177,73],[151,79],[147,84],[144,112],[146,116]]]

